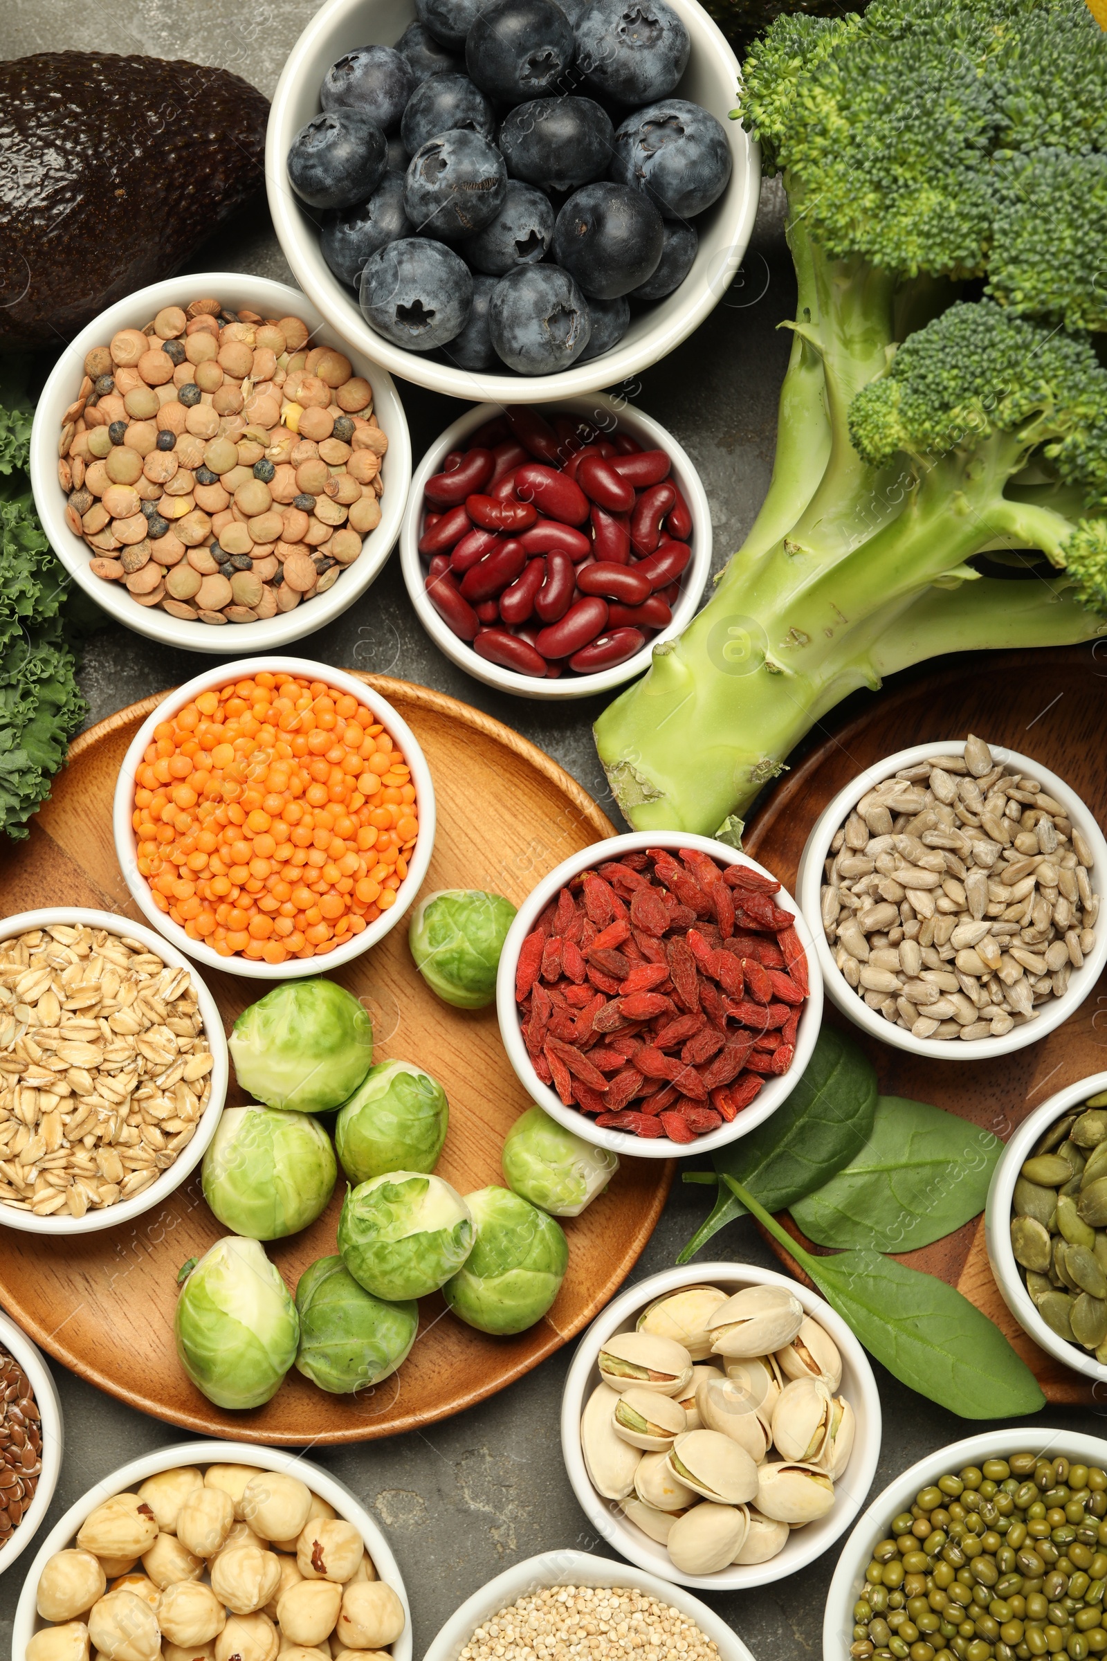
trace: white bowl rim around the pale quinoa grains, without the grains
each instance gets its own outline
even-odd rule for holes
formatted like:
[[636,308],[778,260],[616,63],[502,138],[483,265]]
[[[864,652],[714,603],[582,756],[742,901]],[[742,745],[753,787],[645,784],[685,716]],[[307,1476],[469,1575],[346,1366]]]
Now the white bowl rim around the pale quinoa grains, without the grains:
[[563,1551],[543,1551],[539,1556],[526,1558],[524,1563],[513,1563],[503,1575],[496,1575],[486,1586],[466,1598],[446,1624],[441,1628],[423,1661],[458,1661],[466,1643],[476,1628],[508,1608],[528,1593],[541,1591],[544,1586],[632,1586],[637,1591],[651,1593],[661,1603],[671,1605],[680,1614],[695,1621],[707,1638],[714,1638],[720,1661],[753,1661],[732,1626],[709,1610],[699,1598],[671,1586],[656,1575],[647,1575],[641,1568],[627,1568],[626,1563],[614,1563],[611,1558],[593,1556],[591,1551],[574,1551],[566,1546]]

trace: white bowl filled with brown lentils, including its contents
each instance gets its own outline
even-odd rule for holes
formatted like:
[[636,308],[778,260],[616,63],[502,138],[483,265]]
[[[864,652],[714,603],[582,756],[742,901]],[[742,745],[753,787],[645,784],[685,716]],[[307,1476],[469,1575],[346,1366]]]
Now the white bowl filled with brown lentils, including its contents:
[[302,639],[370,586],[412,478],[392,377],[304,294],[173,277],[101,312],[35,412],[35,507],[68,573],[189,651]]

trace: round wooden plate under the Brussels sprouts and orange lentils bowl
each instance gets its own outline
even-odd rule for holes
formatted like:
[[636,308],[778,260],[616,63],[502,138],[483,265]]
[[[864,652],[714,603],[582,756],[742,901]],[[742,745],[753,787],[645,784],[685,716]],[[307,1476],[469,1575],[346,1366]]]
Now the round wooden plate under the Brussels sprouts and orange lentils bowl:
[[[415,731],[435,779],[438,837],[427,890],[480,887],[519,902],[548,870],[614,827],[534,744],[453,698],[363,674]],[[5,857],[3,907],[91,905],[141,920],[111,840],[119,764],[158,698],[83,733],[30,839]],[[320,962],[325,972],[325,960]],[[206,977],[227,1030],[261,997],[256,982]],[[405,1056],[441,1080],[450,1134],[438,1171],[461,1193],[503,1183],[500,1148],[528,1106],[493,1008],[453,1010],[415,973],[400,925],[335,972],[373,1017],[377,1058]],[[232,1083],[227,1103],[246,1100]],[[159,1213],[86,1239],[3,1231],[0,1302],[66,1367],[156,1418],[246,1442],[362,1442],[432,1423],[503,1390],[574,1337],[622,1282],[661,1216],[672,1161],[624,1161],[583,1218],[566,1219],[569,1271],[544,1320],[491,1339],[446,1316],[438,1294],[420,1306],[420,1334],[402,1370],[357,1397],[327,1395],[295,1369],[252,1412],[214,1407],[186,1379],[173,1342],[176,1272],[226,1229],[202,1201],[199,1173]],[[342,1184],[322,1218],[267,1251],[290,1287],[335,1251]]]

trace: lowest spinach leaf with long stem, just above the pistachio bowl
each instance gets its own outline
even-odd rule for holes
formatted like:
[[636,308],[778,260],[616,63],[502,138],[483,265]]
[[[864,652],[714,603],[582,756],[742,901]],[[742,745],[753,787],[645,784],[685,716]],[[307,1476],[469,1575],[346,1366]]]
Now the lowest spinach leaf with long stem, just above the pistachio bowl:
[[999,1327],[953,1286],[878,1251],[813,1257],[747,1188],[732,1176],[722,1181],[901,1384],[961,1418],[1012,1418],[1046,1405],[1034,1374]]

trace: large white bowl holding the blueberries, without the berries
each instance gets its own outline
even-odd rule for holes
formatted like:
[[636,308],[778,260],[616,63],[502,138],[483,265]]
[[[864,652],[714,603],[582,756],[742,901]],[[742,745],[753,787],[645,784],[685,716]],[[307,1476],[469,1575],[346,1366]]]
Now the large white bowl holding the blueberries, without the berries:
[[344,51],[354,47],[392,47],[415,22],[412,0],[329,0],[310,20],[289,53],[269,110],[266,188],[269,211],[284,256],[297,282],[320,312],[358,352],[383,364],[405,380],[455,399],[501,399],[536,404],[548,399],[614,387],[639,375],[685,341],[734,282],[745,254],[760,193],[760,153],[729,113],[737,96],[739,63],[717,25],[695,0],[669,0],[692,37],[689,66],[674,96],[687,98],[715,115],[727,133],[734,169],[727,189],[697,219],[700,236],[692,271],[680,287],[631,321],[622,341],[588,364],[556,375],[470,374],[438,364],[423,352],[392,345],[362,317],[350,289],[327,266],[319,247],[322,214],[307,209],[292,193],[285,156],[300,128],[319,113],[319,85]]

